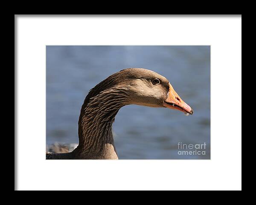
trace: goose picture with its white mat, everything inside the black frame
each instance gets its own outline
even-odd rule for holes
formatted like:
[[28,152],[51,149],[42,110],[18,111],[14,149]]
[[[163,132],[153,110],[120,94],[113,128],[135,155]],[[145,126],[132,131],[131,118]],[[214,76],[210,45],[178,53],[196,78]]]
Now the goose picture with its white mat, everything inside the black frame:
[[241,21],[15,14],[14,191],[241,191]]

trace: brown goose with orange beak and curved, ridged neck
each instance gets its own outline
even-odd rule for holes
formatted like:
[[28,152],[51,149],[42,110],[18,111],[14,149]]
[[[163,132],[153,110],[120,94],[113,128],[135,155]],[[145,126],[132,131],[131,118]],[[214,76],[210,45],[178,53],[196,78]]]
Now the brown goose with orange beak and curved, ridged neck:
[[46,159],[118,159],[112,124],[119,109],[130,104],[194,112],[162,75],[143,68],[123,69],[93,87],[84,99],[76,149],[46,153]]

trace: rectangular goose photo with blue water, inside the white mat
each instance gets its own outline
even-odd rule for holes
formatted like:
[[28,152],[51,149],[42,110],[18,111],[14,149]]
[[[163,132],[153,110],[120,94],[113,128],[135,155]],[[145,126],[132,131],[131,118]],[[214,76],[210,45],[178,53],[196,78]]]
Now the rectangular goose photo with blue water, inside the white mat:
[[46,46],[46,87],[46,159],[210,159],[210,46]]

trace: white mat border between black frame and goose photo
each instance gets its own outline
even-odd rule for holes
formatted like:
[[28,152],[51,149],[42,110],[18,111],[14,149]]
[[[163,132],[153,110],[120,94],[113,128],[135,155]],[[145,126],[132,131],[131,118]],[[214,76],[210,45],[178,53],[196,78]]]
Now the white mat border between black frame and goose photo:
[[[17,190],[241,190],[241,16],[16,16],[15,31]],[[211,160],[45,160],[46,45],[211,45]]]

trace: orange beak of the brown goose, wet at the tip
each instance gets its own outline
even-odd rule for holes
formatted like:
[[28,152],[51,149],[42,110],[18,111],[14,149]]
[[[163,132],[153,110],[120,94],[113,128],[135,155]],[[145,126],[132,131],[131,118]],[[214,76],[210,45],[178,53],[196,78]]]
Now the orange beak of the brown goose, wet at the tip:
[[180,98],[170,83],[169,86],[169,95],[168,98],[163,102],[163,106],[170,109],[180,110],[187,115],[192,115],[194,113],[192,108]]

